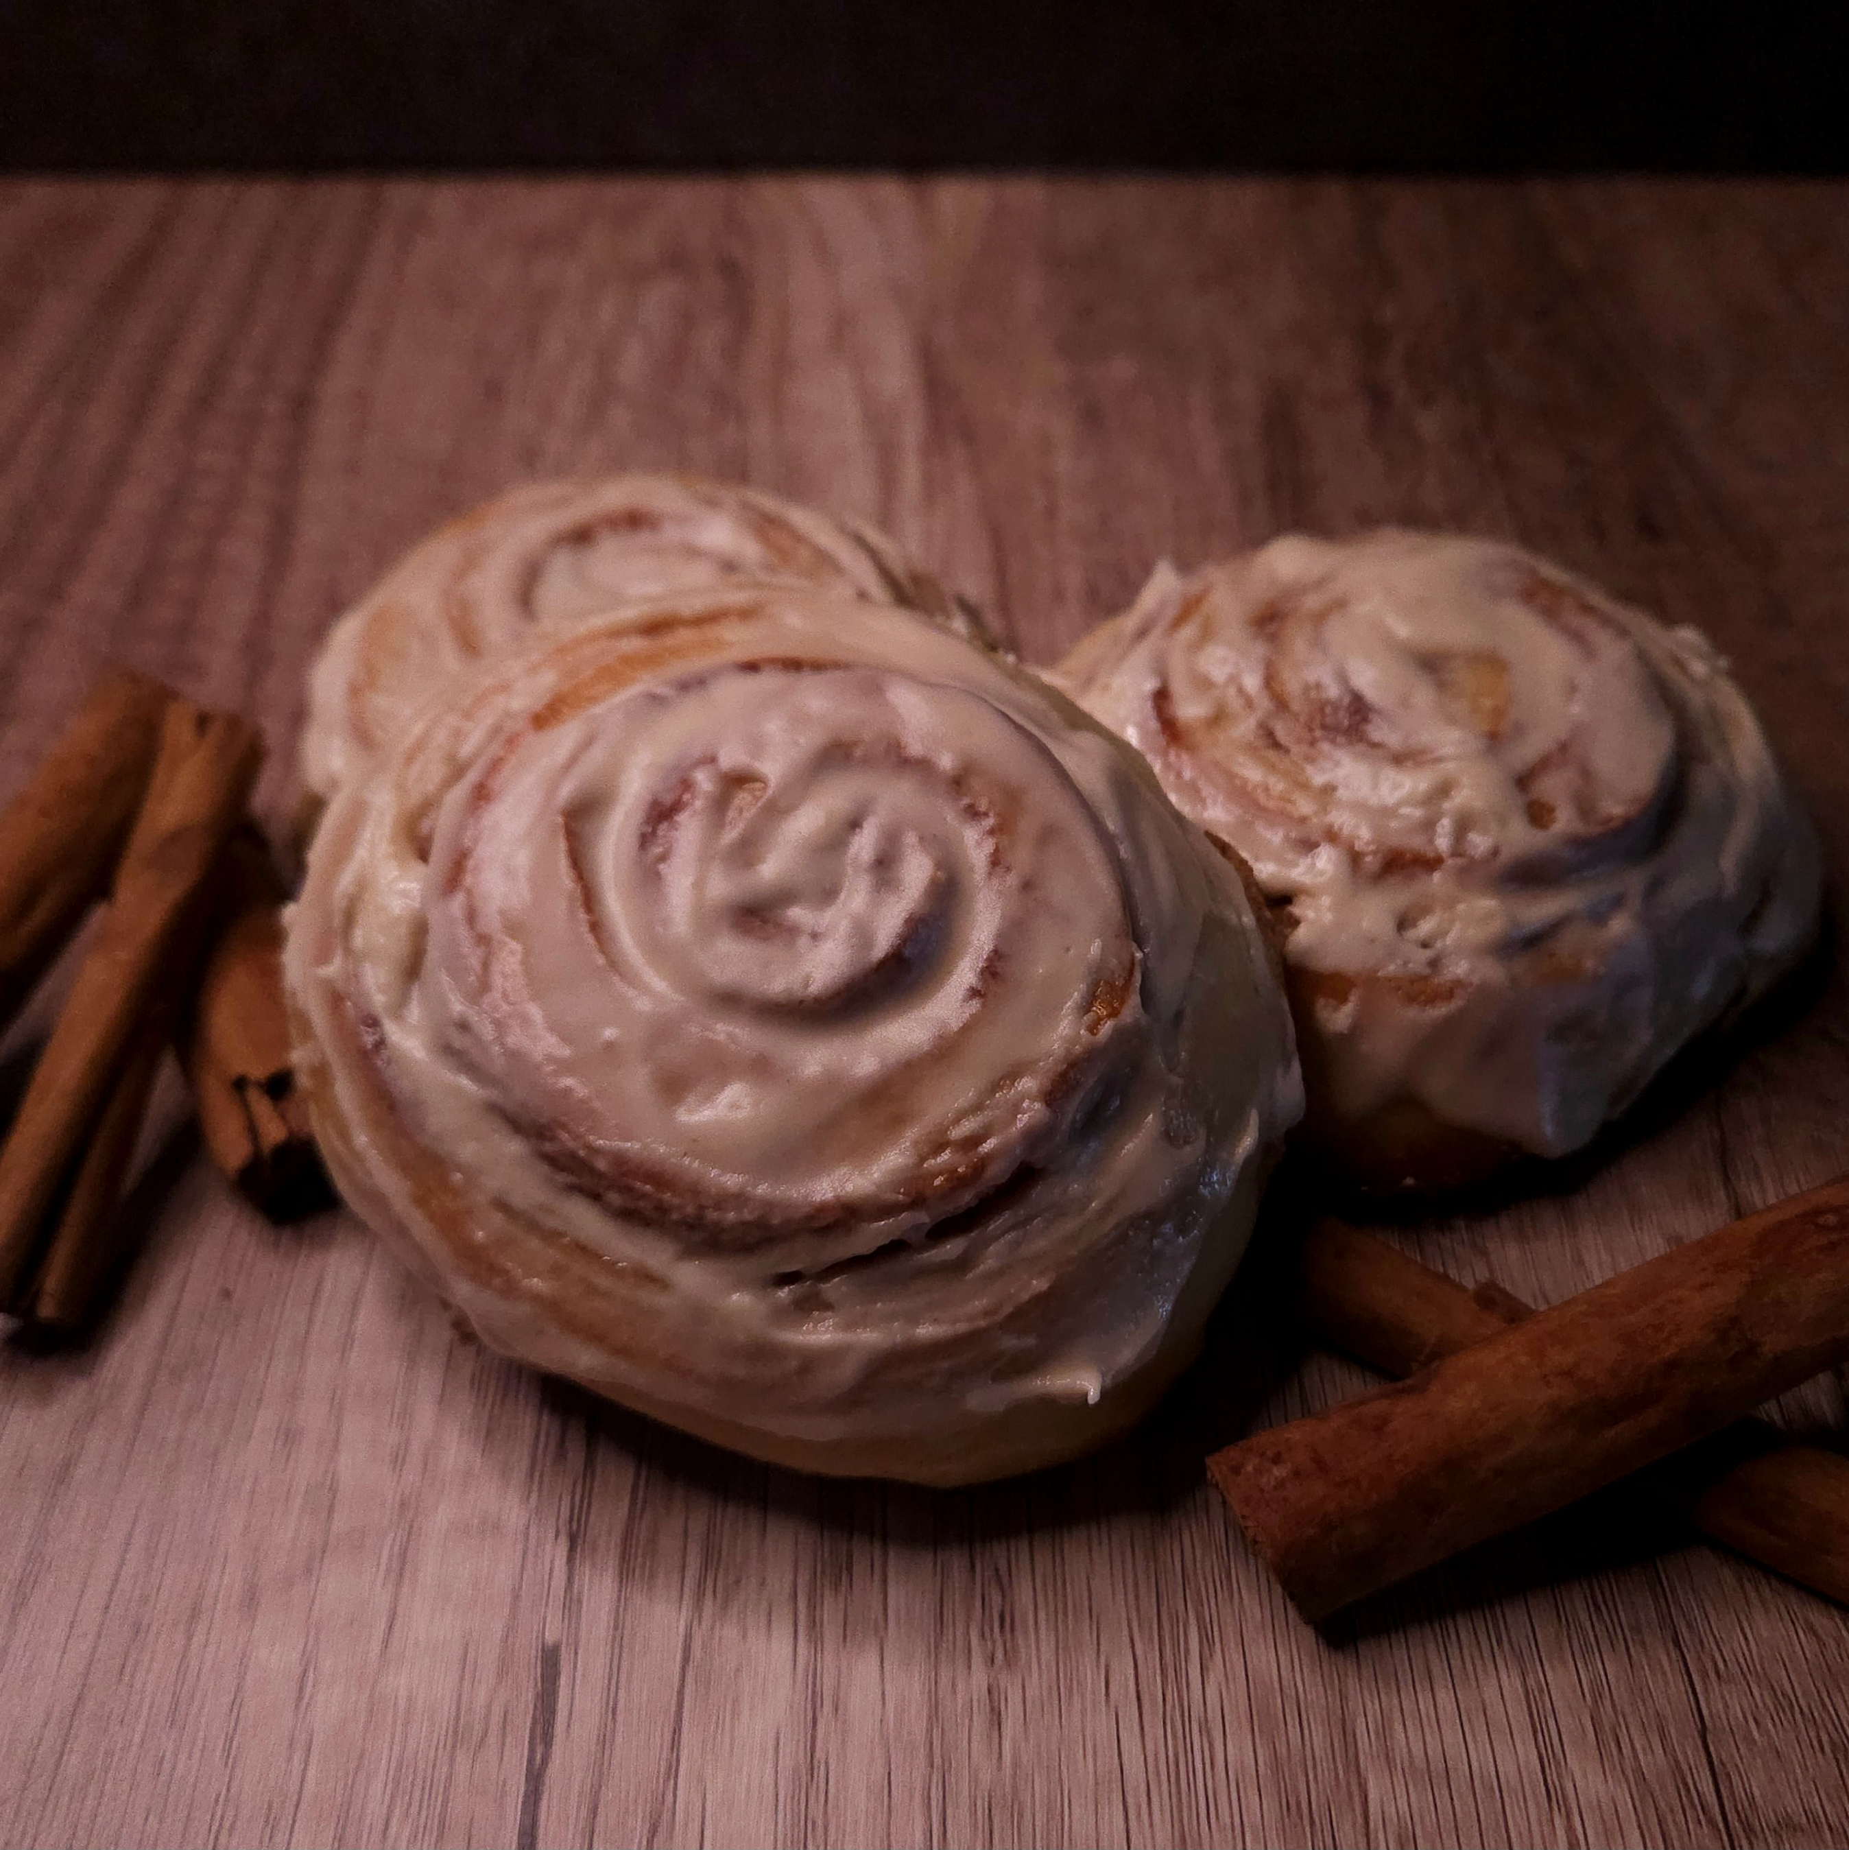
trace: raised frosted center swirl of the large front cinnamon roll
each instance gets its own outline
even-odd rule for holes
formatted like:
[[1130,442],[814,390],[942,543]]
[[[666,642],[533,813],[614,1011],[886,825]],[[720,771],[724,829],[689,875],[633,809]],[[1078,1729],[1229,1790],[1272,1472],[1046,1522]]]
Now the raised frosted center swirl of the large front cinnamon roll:
[[569,1186],[795,1269],[1032,1169],[1141,1019],[1059,760],[875,666],[721,662],[510,733],[440,807],[425,910],[425,1032]]

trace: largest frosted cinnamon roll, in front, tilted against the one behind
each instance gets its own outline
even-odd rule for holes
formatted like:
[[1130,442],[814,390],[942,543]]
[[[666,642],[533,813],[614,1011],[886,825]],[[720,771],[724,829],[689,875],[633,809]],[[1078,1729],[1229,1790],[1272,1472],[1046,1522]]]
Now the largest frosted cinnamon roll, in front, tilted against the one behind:
[[747,586],[538,633],[316,834],[298,1073],[492,1347],[960,1484],[1133,1421],[1302,1108],[1239,877],[1076,707]]

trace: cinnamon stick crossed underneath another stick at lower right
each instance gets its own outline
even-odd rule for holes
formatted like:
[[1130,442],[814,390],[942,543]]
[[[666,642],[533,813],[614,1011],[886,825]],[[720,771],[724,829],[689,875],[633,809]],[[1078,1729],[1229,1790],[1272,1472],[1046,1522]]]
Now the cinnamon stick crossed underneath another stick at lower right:
[[[1535,1315],[1494,1280],[1457,1284],[1342,1221],[1305,1236],[1298,1304],[1329,1347],[1402,1376]],[[1733,1434],[1751,1456],[1697,1447],[1664,1493],[1710,1541],[1849,1606],[1849,1458],[1762,1419]]]

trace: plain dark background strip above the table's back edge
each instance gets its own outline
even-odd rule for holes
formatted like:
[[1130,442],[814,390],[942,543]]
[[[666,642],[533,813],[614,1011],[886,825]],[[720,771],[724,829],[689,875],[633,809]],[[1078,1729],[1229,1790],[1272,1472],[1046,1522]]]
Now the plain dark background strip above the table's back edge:
[[0,165],[1836,172],[1845,13],[0,0]]

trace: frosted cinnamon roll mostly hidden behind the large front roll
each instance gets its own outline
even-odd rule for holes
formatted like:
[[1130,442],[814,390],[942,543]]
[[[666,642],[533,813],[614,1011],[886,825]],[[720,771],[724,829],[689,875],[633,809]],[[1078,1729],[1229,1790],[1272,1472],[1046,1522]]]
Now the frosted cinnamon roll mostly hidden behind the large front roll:
[[869,527],[695,475],[531,483],[438,527],[329,631],[301,738],[311,808],[457,668],[516,648],[533,623],[740,579],[906,605],[989,642],[967,599]]

